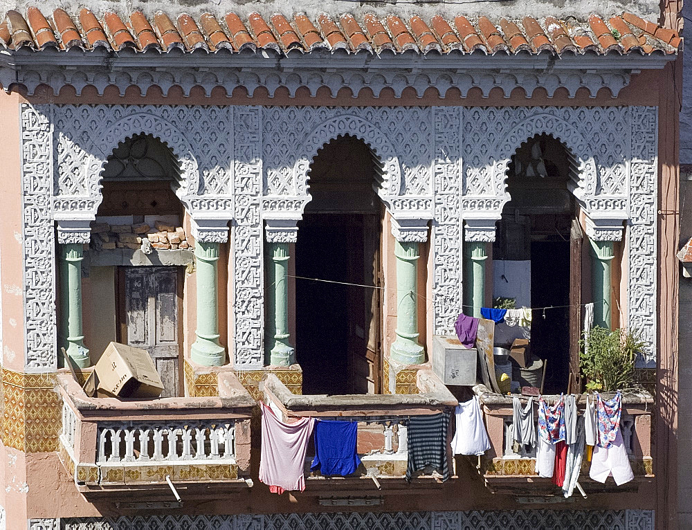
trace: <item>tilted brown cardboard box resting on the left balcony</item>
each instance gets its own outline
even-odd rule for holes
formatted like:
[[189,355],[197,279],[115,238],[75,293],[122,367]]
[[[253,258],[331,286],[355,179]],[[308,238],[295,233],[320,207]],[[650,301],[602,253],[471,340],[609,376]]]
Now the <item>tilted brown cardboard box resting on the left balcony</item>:
[[149,397],[163,392],[161,377],[145,349],[111,342],[94,367],[99,397]]

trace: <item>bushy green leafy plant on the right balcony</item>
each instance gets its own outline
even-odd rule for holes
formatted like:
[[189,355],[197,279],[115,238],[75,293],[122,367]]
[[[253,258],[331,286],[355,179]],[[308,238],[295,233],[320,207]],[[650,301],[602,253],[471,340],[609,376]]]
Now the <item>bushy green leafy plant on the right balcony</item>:
[[594,327],[580,341],[579,366],[587,378],[586,390],[614,392],[632,387],[635,361],[646,343],[628,329]]

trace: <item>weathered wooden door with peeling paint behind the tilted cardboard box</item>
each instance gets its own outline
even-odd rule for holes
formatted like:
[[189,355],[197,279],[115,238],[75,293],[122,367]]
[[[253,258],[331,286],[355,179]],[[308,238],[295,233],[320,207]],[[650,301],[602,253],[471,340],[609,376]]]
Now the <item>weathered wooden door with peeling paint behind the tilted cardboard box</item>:
[[179,276],[177,267],[118,271],[118,341],[149,352],[165,389],[162,397],[182,395]]

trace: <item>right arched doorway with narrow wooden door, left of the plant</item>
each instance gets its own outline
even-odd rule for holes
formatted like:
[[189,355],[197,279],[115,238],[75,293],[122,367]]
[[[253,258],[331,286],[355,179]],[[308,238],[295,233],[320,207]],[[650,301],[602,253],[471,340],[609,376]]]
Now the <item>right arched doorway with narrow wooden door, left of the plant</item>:
[[[493,298],[547,308],[533,311],[529,337],[531,356],[546,363],[547,394],[579,391],[583,234],[571,179],[576,180],[576,160],[559,140],[540,134],[522,143],[507,170],[511,200],[493,244]],[[519,335],[529,331],[498,329],[502,345]]]

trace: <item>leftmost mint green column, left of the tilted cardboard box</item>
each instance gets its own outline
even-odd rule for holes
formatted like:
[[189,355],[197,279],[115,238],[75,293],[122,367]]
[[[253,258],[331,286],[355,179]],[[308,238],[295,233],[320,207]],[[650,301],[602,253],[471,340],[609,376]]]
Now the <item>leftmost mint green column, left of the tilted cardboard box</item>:
[[80,368],[91,365],[82,331],[82,259],[81,243],[60,245],[60,319],[67,355]]

